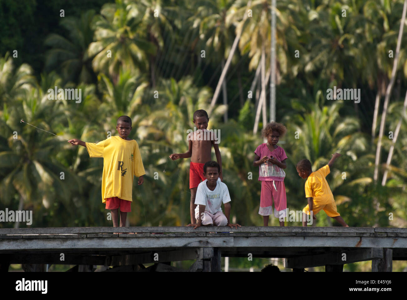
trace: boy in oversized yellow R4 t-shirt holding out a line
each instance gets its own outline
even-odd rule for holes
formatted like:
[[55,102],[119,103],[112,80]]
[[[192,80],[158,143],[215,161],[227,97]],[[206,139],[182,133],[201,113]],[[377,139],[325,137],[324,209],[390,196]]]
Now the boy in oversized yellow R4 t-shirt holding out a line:
[[138,177],[138,185],[144,182],[143,162],[136,140],[129,139],[131,119],[122,115],[117,119],[119,136],[109,137],[98,143],[88,143],[71,139],[72,145],[81,145],[88,150],[89,157],[103,157],[102,203],[112,212],[113,226],[125,226],[127,213],[131,211],[133,176]]

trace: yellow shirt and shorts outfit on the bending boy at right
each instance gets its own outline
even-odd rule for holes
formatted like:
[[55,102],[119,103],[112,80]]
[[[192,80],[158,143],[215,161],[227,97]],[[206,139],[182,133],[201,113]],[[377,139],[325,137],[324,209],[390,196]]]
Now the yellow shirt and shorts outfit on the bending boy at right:
[[[337,217],[340,214],[337,212],[335,200],[333,199],[332,191],[325,177],[330,173],[329,166],[325,165],[319,170],[309,174],[305,182],[305,197],[313,198],[313,214],[316,215],[321,209],[330,217]],[[309,205],[302,210],[303,213],[309,215]]]

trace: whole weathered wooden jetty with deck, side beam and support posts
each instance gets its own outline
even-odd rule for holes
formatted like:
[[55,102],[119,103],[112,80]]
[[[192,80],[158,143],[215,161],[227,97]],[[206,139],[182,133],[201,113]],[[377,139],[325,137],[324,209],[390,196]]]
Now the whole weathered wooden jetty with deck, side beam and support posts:
[[[214,232],[216,231],[216,232]],[[115,234],[116,233],[116,234]],[[117,234],[120,233],[120,234]],[[0,229],[0,271],[10,264],[75,265],[70,271],[221,271],[221,257],[279,257],[301,272],[325,265],[372,261],[373,272],[391,272],[407,260],[407,228],[360,227],[64,227]],[[171,261],[195,260],[188,270]],[[154,263],[146,268],[143,264]]]

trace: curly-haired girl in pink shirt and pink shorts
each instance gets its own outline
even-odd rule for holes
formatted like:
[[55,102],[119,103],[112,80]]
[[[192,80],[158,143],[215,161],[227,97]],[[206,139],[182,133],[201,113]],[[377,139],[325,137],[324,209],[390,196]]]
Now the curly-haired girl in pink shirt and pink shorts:
[[269,215],[272,214],[272,200],[274,199],[274,216],[279,218],[280,226],[284,226],[286,217],[287,197],[285,194],[284,177],[282,169],[287,167],[287,155],[277,143],[287,128],[276,122],[271,122],[263,129],[262,136],[267,139],[257,147],[254,153],[253,165],[259,167],[258,180],[261,181],[259,215],[263,216],[264,226],[269,225]]

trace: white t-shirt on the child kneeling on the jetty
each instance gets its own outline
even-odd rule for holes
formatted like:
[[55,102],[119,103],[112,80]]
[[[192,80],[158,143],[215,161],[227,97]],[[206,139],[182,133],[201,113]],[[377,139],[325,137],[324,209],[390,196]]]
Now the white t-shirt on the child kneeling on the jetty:
[[[213,191],[208,189],[206,182],[208,180],[199,183],[197,188],[197,196],[195,196],[195,204],[205,205],[205,211],[212,214],[222,211],[221,204],[228,203],[230,200],[228,187],[218,178],[216,187]],[[199,213],[199,206],[196,207],[195,213]]]

